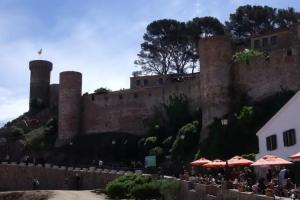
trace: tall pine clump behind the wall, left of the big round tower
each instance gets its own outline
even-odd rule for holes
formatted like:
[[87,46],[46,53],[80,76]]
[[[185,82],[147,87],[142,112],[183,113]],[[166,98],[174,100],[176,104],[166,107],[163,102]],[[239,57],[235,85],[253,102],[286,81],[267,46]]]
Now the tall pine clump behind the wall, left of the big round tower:
[[223,25],[212,17],[187,23],[163,19],[150,23],[135,61],[144,74],[184,74],[194,72],[198,62],[199,37],[223,34]]

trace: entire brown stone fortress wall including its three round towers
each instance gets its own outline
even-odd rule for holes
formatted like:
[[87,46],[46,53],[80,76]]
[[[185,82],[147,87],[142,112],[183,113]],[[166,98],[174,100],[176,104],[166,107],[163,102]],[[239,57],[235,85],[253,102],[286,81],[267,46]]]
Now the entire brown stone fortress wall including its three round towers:
[[249,62],[233,62],[237,47],[228,38],[201,39],[200,73],[132,77],[130,89],[83,96],[79,72],[62,72],[59,85],[50,86],[52,64],[31,61],[30,100],[41,99],[50,106],[58,104],[61,144],[78,134],[143,135],[153,108],[167,103],[169,96],[180,94],[188,97],[193,109],[201,108],[205,135],[214,118],[231,111],[237,95],[258,101],[283,89],[300,89],[300,25],[253,37],[251,47],[269,54]]

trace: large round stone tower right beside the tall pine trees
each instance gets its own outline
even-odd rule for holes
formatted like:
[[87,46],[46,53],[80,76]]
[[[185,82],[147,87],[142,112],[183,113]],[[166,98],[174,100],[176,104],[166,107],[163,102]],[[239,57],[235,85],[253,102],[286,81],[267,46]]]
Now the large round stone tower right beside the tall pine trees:
[[199,56],[203,127],[201,140],[204,140],[208,136],[208,126],[214,119],[223,118],[230,111],[232,65],[230,39],[226,36],[201,39]]

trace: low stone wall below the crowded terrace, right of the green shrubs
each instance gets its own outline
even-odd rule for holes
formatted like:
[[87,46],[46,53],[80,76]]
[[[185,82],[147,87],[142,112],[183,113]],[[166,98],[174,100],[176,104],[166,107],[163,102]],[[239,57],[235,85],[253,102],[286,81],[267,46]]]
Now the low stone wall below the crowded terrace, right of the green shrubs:
[[192,184],[181,181],[181,200],[271,200],[272,197],[255,195],[250,192],[239,192],[237,190],[223,189],[214,185]]

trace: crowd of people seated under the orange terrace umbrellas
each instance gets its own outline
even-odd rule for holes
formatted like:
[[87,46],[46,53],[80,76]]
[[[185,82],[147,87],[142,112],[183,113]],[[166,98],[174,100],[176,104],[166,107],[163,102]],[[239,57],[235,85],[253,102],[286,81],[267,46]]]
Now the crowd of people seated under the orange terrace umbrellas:
[[257,177],[249,167],[240,169],[222,168],[204,170],[190,174],[184,170],[180,175],[182,180],[194,184],[216,185],[226,184],[227,189],[236,189],[240,192],[252,192],[267,196],[300,198],[300,187],[294,182],[293,173],[282,167],[280,170],[270,168],[266,177]]

